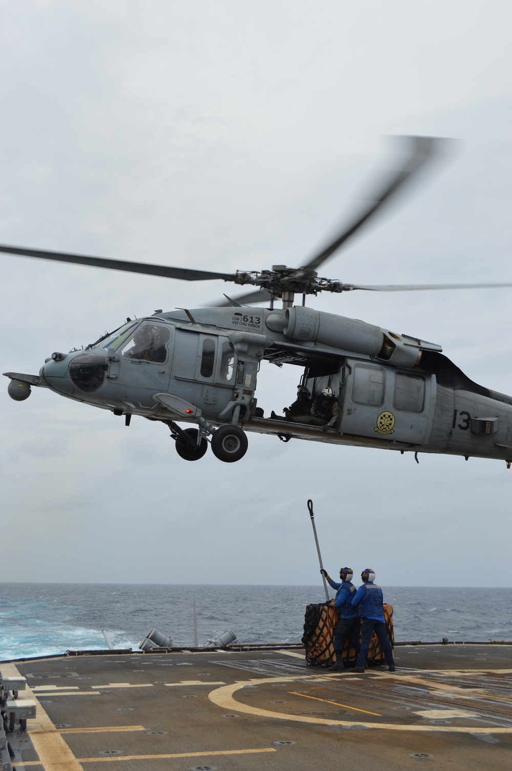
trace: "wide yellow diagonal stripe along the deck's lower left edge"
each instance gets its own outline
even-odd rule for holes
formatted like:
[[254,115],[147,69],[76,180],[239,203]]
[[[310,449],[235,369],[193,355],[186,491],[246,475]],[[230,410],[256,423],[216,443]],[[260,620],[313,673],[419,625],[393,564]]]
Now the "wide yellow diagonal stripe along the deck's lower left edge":
[[[4,677],[20,677],[14,664],[2,664],[2,675]],[[32,692],[32,689],[28,688],[28,685],[25,687],[25,692],[37,701],[37,696]],[[39,760],[31,761],[31,765],[44,766],[45,771],[83,771],[79,761],[62,739],[39,702],[37,715],[34,719],[28,720],[27,729],[35,752],[39,756]],[[28,766],[28,763],[20,765]]]

